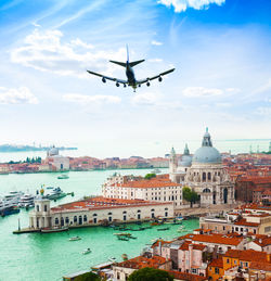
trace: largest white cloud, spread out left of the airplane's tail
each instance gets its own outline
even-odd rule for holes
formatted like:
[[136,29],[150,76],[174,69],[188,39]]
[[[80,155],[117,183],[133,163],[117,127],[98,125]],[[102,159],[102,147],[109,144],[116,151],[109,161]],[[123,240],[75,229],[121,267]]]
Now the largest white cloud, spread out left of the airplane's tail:
[[87,68],[109,75],[115,68],[108,68],[107,61],[126,58],[125,48],[117,51],[93,50],[92,44],[79,38],[63,41],[63,34],[57,29],[35,29],[25,38],[22,47],[11,51],[11,61],[43,72],[89,78]]

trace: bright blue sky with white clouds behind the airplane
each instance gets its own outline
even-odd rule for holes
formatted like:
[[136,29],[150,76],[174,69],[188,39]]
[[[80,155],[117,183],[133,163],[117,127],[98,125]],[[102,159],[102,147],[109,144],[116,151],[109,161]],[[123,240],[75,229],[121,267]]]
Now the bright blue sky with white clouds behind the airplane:
[[[271,2],[138,0],[0,2],[1,143],[91,148],[93,156],[163,155],[198,140],[270,138]],[[108,60],[146,59],[144,78]],[[216,142],[215,142],[216,143]]]

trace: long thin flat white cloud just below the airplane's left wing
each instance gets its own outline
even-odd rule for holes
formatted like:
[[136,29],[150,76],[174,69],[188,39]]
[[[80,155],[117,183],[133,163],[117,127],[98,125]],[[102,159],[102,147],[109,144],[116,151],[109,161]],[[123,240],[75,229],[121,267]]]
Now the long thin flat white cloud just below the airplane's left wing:
[[80,93],[68,93],[63,95],[63,100],[67,102],[86,104],[103,104],[103,103],[120,103],[121,99],[116,95],[86,95]]

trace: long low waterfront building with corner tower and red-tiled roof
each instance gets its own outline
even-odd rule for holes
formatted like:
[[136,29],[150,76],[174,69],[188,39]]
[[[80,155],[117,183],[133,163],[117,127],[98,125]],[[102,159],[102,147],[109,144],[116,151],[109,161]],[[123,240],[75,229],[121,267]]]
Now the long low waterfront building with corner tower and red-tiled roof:
[[99,226],[150,220],[173,216],[171,202],[90,197],[50,208],[50,201],[38,199],[29,214],[29,228]]

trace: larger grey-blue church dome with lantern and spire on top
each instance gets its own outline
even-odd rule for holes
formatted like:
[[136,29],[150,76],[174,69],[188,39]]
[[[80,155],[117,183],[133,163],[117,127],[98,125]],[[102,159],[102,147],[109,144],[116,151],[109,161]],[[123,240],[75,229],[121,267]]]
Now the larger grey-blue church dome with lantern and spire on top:
[[198,149],[194,156],[193,163],[212,163],[212,164],[220,164],[221,163],[221,155],[219,151],[212,148],[212,143],[210,140],[210,135],[208,132],[208,128],[203,138],[202,148]]

